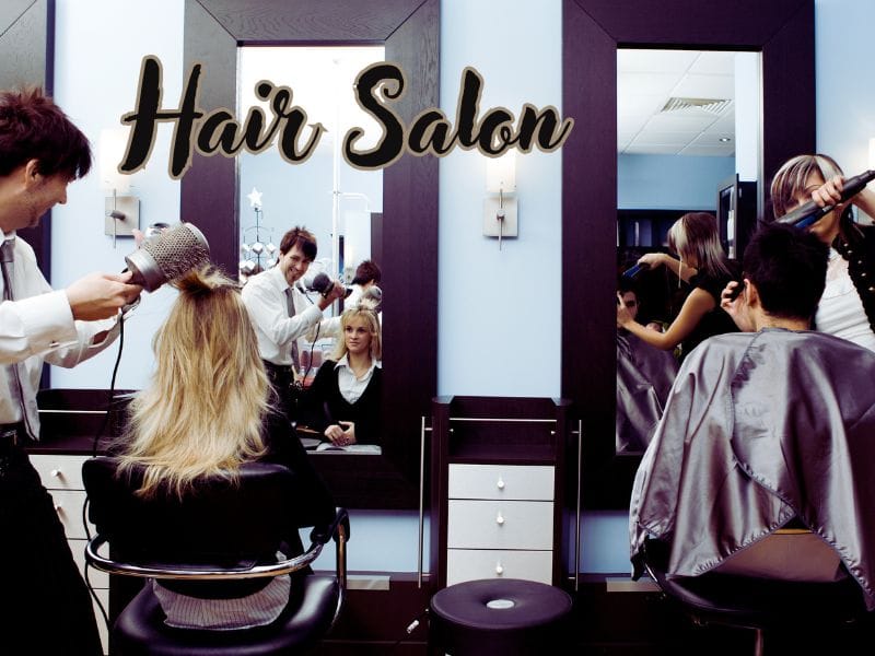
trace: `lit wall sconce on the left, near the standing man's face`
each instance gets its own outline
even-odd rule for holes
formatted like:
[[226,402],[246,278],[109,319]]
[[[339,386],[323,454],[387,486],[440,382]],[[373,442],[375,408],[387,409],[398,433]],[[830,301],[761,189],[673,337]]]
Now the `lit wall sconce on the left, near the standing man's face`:
[[129,194],[131,176],[118,172],[127,134],[124,128],[101,130],[101,188],[110,194],[104,199],[104,234],[113,236],[114,248],[116,237],[131,237],[140,227],[140,199]]

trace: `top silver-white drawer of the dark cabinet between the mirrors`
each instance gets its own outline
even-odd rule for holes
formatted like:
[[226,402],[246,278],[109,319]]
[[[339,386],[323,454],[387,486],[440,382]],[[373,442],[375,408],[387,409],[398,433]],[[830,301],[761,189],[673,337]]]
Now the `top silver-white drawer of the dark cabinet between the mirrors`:
[[448,483],[450,499],[553,499],[549,466],[450,465]]

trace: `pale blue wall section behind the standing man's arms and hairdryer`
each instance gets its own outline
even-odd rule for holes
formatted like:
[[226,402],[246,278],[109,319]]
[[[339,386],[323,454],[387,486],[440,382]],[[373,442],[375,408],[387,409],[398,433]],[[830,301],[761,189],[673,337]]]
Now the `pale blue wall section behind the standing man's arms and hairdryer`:
[[[95,164],[70,185],[68,202],[52,211],[51,283],[66,286],[92,271],[121,271],[133,239],[103,234],[104,197],[97,154],[101,130],[120,128],[133,109],[140,61],[156,55],[164,66],[164,97],[178,98],[183,78],[183,3],[150,0],[57,0],[55,97],[85,132]],[[176,101],[174,101],[174,107]],[[160,126],[147,171],[135,176],[131,192],[140,198],[140,225],[179,221],[179,184],[167,174],[170,126]],[[174,297],[168,288],[143,294],[136,318],[125,327],[125,352],[117,389],[143,387],[152,371],[151,339]],[[74,370],[52,367],[54,387],[108,388],[118,349],[107,349]]]

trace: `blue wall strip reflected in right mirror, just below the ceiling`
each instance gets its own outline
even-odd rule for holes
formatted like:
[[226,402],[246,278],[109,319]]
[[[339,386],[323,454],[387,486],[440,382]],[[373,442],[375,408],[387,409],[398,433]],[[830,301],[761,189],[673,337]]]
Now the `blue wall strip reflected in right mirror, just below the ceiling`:
[[716,210],[718,185],[735,157],[620,155],[617,206],[623,210]]

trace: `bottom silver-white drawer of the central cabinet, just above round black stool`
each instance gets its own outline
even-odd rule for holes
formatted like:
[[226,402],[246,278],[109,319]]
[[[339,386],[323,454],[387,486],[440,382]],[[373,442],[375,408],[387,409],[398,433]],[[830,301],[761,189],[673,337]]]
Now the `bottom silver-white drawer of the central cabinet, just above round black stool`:
[[552,584],[552,551],[450,549],[446,585],[478,578],[523,578]]

